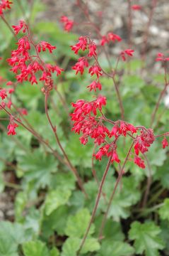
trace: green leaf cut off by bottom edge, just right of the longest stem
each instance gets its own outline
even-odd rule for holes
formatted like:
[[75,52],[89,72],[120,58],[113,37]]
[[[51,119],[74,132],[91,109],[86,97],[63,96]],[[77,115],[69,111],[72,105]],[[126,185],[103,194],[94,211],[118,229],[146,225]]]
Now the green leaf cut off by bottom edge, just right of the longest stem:
[[134,248],[127,242],[115,241],[113,239],[103,240],[97,256],[131,256]]

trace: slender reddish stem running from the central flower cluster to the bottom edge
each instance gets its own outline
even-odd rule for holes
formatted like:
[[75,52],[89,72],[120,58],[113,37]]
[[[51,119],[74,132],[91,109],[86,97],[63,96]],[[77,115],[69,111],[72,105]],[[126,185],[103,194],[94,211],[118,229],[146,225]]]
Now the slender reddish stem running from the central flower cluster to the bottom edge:
[[86,233],[85,233],[85,235],[84,235],[84,237],[83,237],[83,240],[82,240],[82,242],[81,242],[81,245],[80,245],[80,248],[79,248],[79,250],[78,250],[78,252],[77,252],[77,255],[79,255],[79,253],[81,252],[81,249],[82,249],[82,247],[83,247],[83,245],[84,245],[84,243],[85,243],[85,241],[86,241],[86,238],[87,238],[87,236],[88,236],[88,232],[89,232],[89,230],[90,230],[90,228],[91,228],[91,225],[92,225],[92,223],[93,223],[93,220],[94,220],[94,218],[95,218],[95,213],[96,213],[96,210],[98,209],[98,203],[99,203],[99,201],[100,201],[100,196],[101,196],[101,193],[102,193],[102,188],[103,188],[103,185],[104,185],[104,183],[105,183],[105,178],[106,178],[106,176],[107,176],[107,173],[108,173],[108,171],[109,171],[109,169],[110,169],[111,161],[112,161],[112,156],[110,156],[110,158],[109,158],[109,160],[108,160],[108,162],[107,162],[107,166],[106,166],[105,172],[104,172],[104,174],[103,174],[103,178],[102,178],[102,180],[101,180],[101,182],[100,182],[100,186],[99,186],[99,189],[98,189],[98,195],[97,195],[97,198],[96,198],[96,201],[95,201],[95,206],[94,206],[94,208],[93,208],[93,213],[92,213],[92,215],[91,215],[91,220],[90,220],[90,222],[89,222],[89,224],[88,224],[88,228],[87,228]]

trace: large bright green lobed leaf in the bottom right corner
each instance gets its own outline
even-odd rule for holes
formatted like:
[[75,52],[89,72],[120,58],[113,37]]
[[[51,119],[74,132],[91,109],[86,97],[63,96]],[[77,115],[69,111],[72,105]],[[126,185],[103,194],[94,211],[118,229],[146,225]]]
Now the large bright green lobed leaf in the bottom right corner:
[[141,224],[135,221],[129,230],[129,239],[134,240],[137,254],[145,252],[146,256],[157,256],[159,255],[158,250],[162,250],[164,247],[160,233],[161,229],[153,222]]

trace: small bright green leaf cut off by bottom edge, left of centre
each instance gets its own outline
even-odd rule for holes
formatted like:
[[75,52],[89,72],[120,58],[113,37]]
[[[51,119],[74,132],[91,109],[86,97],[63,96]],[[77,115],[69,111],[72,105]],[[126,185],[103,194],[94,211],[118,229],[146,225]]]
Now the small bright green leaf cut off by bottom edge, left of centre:
[[25,256],[48,256],[49,252],[45,243],[41,241],[29,241],[23,244]]

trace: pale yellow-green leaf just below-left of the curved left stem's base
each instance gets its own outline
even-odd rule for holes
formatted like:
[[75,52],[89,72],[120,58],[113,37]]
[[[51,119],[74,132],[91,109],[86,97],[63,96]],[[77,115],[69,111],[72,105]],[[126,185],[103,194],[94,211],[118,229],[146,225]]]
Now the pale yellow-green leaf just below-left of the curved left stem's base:
[[71,191],[66,188],[57,188],[54,191],[50,191],[45,201],[45,213],[49,215],[59,206],[65,205],[69,201],[70,196]]

